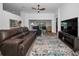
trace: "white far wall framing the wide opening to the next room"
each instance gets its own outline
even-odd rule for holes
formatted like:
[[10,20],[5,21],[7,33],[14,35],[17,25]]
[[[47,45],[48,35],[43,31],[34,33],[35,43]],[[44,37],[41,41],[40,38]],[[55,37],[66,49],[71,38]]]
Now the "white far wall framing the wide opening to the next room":
[[29,20],[52,20],[52,32],[56,33],[56,20],[53,13],[25,13],[21,12],[21,17],[24,19],[24,25],[29,27]]

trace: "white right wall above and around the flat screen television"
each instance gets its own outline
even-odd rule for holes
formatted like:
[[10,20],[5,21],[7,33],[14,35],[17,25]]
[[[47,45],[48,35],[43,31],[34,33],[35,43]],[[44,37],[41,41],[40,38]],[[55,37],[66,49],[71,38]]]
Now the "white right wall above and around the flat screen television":
[[[60,8],[60,20],[66,20],[74,17],[79,18],[79,3],[63,4],[62,7]],[[79,36],[79,21],[78,21],[78,36]]]

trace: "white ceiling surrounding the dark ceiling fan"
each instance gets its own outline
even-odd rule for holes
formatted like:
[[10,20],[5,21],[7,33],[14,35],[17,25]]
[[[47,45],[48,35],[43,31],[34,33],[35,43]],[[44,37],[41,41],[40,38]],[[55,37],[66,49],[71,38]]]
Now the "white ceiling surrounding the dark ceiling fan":
[[41,13],[53,13],[62,3],[3,3],[3,9],[14,14],[20,14],[21,11],[26,13],[35,13],[36,11],[32,7],[46,8],[46,10],[41,11]]

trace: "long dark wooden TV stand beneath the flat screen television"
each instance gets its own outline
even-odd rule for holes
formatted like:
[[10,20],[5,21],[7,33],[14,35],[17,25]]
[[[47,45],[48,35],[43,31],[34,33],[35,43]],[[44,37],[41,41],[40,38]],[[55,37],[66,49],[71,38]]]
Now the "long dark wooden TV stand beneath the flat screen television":
[[74,51],[79,50],[79,38],[63,31],[59,31],[58,35],[59,39],[63,42],[67,43],[69,47],[71,47]]

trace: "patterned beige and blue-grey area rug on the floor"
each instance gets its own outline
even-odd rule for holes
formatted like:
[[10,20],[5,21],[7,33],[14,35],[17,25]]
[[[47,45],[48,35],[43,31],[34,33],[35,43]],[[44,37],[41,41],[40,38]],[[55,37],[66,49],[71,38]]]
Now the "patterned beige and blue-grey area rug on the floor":
[[78,56],[56,36],[37,37],[30,52],[30,56]]

